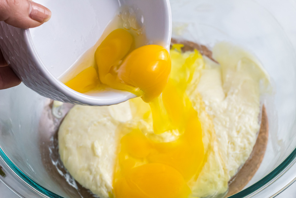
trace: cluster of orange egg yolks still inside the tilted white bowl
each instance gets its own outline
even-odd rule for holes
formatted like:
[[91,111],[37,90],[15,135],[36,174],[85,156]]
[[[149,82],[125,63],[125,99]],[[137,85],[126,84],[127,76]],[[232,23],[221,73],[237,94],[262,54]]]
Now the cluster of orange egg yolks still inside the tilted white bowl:
[[94,58],[97,73],[87,68],[65,84],[83,93],[94,89],[99,77],[101,83],[149,102],[161,94],[170,74],[170,55],[164,47],[144,45],[133,49],[133,37],[120,28],[103,40]]

